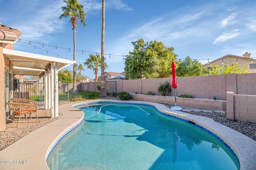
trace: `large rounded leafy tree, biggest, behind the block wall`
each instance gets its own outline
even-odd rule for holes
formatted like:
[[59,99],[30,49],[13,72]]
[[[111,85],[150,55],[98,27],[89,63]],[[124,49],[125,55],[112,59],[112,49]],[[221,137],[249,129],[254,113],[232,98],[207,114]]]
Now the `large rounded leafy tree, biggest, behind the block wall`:
[[173,47],[165,47],[162,42],[143,39],[132,42],[134,50],[125,59],[126,78],[166,78],[170,77],[172,61],[176,60]]

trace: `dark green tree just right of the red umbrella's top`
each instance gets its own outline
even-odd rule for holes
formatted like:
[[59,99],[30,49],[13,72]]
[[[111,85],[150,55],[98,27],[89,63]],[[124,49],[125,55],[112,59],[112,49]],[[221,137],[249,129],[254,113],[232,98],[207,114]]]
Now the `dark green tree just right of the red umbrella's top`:
[[186,76],[203,76],[209,73],[207,68],[204,68],[198,60],[192,61],[190,57],[186,57],[183,61],[180,60],[177,64],[176,75],[177,77]]

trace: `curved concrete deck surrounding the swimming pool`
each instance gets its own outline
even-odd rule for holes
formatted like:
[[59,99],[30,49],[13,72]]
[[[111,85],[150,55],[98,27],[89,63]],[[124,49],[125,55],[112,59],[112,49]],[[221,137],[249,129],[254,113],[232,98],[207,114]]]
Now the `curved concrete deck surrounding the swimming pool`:
[[155,106],[163,113],[192,121],[221,137],[237,154],[240,160],[241,170],[255,170],[256,168],[256,141],[229,127],[221,125],[220,123],[216,123],[213,119],[191,115],[181,111],[174,111],[162,104],[153,102],[86,100],[60,105],[59,113],[62,114],[60,119],[40,127],[39,129],[16,141],[12,145],[1,150],[0,169],[49,169],[46,163],[46,158],[52,147],[63,136],[63,134],[65,134],[67,131],[70,131],[72,127],[80,124],[83,121],[84,112],[80,109],[74,108],[74,106],[91,102],[150,104]]

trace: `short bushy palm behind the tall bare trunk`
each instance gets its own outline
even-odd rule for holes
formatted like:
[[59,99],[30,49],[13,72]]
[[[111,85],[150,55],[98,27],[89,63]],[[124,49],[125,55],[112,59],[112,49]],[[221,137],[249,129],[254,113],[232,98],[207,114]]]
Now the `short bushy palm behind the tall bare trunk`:
[[[84,62],[84,65],[89,69],[93,69],[95,74],[95,81],[98,82],[98,67],[101,65],[100,54],[90,54],[89,58]],[[104,63],[103,66],[103,68],[108,68],[107,63]]]

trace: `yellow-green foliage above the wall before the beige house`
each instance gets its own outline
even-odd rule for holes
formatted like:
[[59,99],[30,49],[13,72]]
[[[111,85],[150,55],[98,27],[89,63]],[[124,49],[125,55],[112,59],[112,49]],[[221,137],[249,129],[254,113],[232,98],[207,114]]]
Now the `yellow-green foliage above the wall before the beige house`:
[[242,68],[238,68],[238,66],[239,64],[236,64],[236,63],[232,64],[231,67],[228,64],[226,67],[224,66],[224,64],[222,64],[221,67],[219,65],[212,66],[211,64],[212,71],[210,70],[209,75],[223,75],[228,73],[236,73],[236,74],[248,73],[247,71],[248,66],[245,66]]

